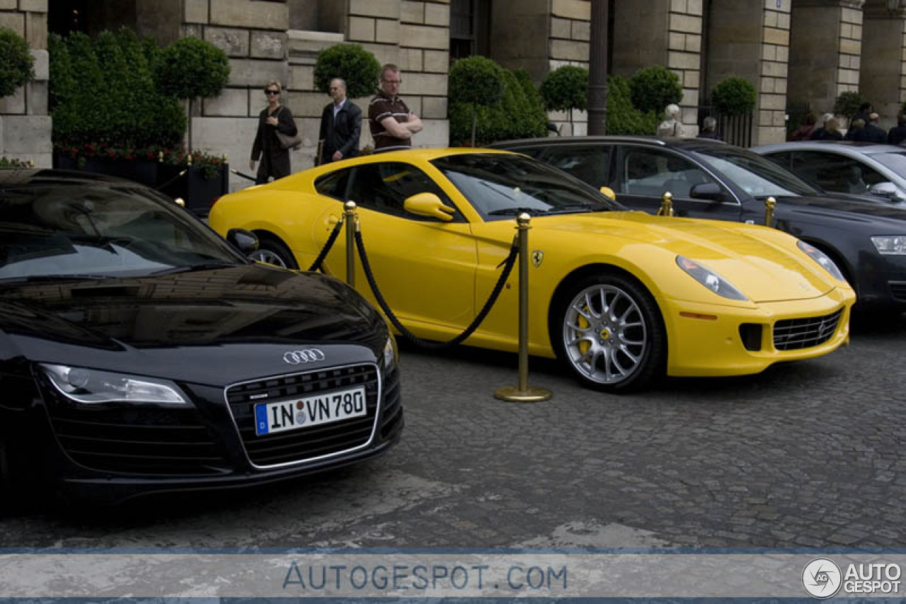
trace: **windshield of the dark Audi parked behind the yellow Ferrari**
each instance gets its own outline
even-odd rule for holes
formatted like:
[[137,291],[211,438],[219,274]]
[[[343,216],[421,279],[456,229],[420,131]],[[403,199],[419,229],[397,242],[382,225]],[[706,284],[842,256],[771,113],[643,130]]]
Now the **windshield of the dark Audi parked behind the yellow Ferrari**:
[[730,147],[708,145],[692,151],[699,160],[715,170],[752,197],[788,197],[821,195],[821,191],[757,153]]

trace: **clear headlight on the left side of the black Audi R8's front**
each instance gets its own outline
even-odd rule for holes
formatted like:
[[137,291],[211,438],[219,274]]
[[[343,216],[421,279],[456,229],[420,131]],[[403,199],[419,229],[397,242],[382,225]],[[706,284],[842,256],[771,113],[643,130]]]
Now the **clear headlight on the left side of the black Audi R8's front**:
[[167,380],[69,365],[40,366],[56,389],[77,403],[188,403],[179,387]]

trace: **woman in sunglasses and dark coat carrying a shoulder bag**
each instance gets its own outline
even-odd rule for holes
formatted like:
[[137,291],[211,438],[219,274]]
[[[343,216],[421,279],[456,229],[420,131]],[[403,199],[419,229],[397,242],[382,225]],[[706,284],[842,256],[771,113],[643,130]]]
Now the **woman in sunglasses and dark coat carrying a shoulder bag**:
[[290,174],[289,150],[280,146],[276,132],[295,136],[299,131],[295,127],[293,112],[280,104],[282,92],[283,88],[279,82],[271,82],[265,86],[267,106],[258,114],[258,130],[255,132],[255,142],[252,143],[252,159],[248,161],[248,167],[255,170],[255,163],[258,158],[261,159],[255,175],[255,184],[265,183],[271,177],[274,180],[282,179]]

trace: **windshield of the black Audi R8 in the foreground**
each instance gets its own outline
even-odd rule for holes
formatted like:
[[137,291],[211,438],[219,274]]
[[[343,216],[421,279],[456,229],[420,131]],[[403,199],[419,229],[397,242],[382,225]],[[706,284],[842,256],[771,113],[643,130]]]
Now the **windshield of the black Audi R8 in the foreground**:
[[0,189],[0,281],[139,277],[245,261],[152,190],[82,184]]

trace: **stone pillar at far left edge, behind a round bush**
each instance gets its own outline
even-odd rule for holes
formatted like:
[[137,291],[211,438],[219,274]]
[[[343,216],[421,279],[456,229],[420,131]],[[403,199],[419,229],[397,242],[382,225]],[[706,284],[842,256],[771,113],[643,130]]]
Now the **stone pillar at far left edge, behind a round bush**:
[[0,99],[0,157],[53,163],[51,118],[47,114],[47,0],[0,0],[0,27],[28,42],[34,56],[34,82]]

